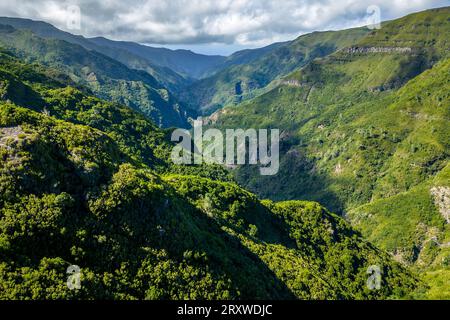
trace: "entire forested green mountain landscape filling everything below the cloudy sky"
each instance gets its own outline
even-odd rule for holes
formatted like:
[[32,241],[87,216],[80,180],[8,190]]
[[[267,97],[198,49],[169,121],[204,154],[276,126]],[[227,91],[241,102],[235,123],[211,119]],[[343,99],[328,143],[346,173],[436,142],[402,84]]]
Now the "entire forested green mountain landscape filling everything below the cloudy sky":
[[[0,299],[450,299],[449,17],[230,57],[0,18]],[[174,164],[197,115],[278,174]]]

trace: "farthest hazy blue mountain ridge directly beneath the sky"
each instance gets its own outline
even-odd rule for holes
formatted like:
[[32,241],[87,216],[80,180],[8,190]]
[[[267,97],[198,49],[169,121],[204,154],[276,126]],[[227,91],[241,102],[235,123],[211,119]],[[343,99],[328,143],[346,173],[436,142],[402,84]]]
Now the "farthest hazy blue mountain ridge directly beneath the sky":
[[[209,56],[189,50],[154,48],[135,42],[113,41],[104,37],[85,38],[59,30],[49,23],[30,19],[0,17],[0,24],[11,25],[17,29],[29,29],[43,38],[59,39],[78,44],[86,49],[103,53],[132,68],[145,69],[145,65],[149,64],[149,66],[146,66],[147,68],[155,68],[156,70],[153,72],[158,73],[157,71],[159,71],[162,73],[161,80],[166,80],[167,74],[164,74],[164,71],[175,71],[186,78],[186,81],[204,78],[206,75],[214,74],[225,67],[249,63],[281,45],[273,44],[261,49],[242,50],[229,57]],[[146,63],[143,63],[143,61]],[[139,63],[143,63],[143,65],[140,66]],[[179,81],[183,83],[181,79]]]

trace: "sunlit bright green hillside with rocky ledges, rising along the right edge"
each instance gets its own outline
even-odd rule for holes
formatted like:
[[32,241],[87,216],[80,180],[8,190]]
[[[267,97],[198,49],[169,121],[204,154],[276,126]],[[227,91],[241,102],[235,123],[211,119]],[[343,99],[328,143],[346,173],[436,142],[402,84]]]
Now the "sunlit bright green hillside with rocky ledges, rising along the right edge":
[[[449,297],[450,8],[383,24],[211,126],[279,128],[274,177],[240,167],[263,198],[319,201]],[[445,288],[442,289],[442,288]]]

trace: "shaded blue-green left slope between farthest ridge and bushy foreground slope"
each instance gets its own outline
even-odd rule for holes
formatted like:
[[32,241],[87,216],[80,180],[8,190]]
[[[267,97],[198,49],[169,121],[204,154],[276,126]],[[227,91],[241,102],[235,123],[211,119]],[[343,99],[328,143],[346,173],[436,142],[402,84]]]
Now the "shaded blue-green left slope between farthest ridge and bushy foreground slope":
[[28,30],[3,25],[0,45],[30,62],[40,62],[68,74],[97,96],[126,104],[160,126],[188,126],[190,111],[149,73],[127,68],[93,50],[62,40],[44,39]]

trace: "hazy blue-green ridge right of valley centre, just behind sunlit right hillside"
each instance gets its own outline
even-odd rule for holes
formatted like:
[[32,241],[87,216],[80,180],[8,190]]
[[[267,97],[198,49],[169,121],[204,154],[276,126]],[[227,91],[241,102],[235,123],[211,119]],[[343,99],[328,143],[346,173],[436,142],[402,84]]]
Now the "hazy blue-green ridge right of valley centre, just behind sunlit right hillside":
[[349,46],[368,32],[367,29],[314,32],[288,43],[269,48],[248,64],[232,64],[229,68],[187,87],[181,99],[201,113],[211,114],[229,104],[263,93],[271,81],[284,76],[315,58]]

